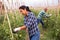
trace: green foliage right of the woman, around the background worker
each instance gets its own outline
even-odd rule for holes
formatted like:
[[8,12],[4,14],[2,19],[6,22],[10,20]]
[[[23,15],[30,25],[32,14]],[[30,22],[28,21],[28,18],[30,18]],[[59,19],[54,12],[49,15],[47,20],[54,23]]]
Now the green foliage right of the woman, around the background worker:
[[[39,11],[33,10],[33,12],[37,16]],[[52,16],[49,18],[43,18],[45,29],[43,29],[42,26],[39,24],[40,33],[41,33],[40,39],[41,40],[60,40],[60,10],[59,10],[58,16],[56,16],[55,9],[49,9],[47,13],[52,14]]]

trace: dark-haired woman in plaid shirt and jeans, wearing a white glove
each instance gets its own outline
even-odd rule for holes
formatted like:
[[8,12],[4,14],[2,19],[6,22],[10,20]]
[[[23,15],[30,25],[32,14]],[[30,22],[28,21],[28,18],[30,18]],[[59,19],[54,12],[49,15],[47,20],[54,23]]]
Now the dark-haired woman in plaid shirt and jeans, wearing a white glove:
[[24,25],[15,28],[13,32],[28,29],[29,39],[39,40],[40,32],[38,29],[37,18],[35,17],[35,15],[30,11],[29,7],[24,5],[19,7],[19,11],[24,15]]

